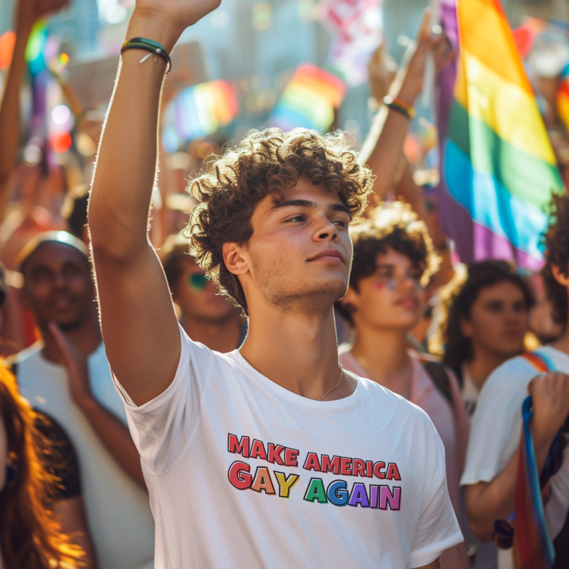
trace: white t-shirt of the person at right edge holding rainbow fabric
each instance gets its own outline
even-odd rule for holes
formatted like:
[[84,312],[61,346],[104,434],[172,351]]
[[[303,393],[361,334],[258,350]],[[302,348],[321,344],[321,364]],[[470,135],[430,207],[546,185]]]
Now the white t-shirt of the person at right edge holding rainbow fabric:
[[[569,373],[569,356],[546,346],[537,350],[552,370]],[[461,485],[490,482],[508,464],[519,446],[522,432],[522,403],[527,384],[538,370],[525,358],[515,357],[496,368],[486,380],[472,418],[466,467]],[[545,517],[551,539],[563,527],[569,510],[569,446],[564,450],[563,466],[551,479],[551,494]],[[510,551],[500,551],[498,567],[512,563]]]

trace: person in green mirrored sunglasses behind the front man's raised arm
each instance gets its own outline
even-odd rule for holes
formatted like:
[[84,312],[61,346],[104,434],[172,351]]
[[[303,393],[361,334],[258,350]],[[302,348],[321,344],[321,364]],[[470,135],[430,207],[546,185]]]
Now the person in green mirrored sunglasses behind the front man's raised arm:
[[216,352],[239,348],[245,340],[247,322],[188,254],[188,241],[179,234],[171,235],[159,256],[185,333]]

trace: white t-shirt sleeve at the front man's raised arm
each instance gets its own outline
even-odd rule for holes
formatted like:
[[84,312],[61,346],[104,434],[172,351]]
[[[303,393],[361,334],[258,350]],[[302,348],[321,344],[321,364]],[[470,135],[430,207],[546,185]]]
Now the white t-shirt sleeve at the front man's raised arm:
[[167,471],[192,438],[199,420],[208,377],[215,376],[217,356],[189,339],[180,326],[182,351],[172,383],[158,397],[137,406],[113,376],[125,405],[130,434],[142,463],[156,474]]

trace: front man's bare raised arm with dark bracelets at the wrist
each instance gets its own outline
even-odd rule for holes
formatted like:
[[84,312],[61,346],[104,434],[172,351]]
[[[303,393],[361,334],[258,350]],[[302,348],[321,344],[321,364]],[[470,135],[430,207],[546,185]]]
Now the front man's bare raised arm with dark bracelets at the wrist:
[[[137,0],[126,39],[180,34],[219,0]],[[166,62],[142,50],[122,56],[89,200],[89,229],[106,351],[137,405],[164,391],[180,358],[178,323],[147,236],[155,178],[159,99]]]

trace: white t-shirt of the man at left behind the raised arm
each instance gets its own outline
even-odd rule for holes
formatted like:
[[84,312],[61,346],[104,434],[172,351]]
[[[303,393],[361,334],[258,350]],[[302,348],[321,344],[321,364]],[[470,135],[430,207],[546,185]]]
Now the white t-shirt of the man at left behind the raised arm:
[[[42,344],[20,352],[18,384],[32,407],[51,415],[71,440],[90,537],[101,569],[152,569],[154,520],[146,492],[106,450],[69,396],[62,366],[46,360]],[[105,347],[90,354],[89,385],[97,401],[125,423],[126,414],[110,377]]]

